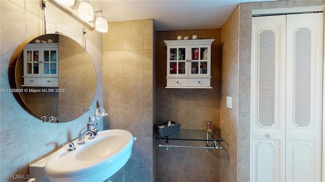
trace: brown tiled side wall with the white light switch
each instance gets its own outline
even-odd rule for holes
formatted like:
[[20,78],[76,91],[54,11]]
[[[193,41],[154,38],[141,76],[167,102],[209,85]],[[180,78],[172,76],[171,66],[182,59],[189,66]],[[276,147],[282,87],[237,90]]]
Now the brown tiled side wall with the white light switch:
[[[221,45],[220,180],[237,181],[239,7],[221,28]],[[232,108],[226,107],[226,96],[232,97]]]

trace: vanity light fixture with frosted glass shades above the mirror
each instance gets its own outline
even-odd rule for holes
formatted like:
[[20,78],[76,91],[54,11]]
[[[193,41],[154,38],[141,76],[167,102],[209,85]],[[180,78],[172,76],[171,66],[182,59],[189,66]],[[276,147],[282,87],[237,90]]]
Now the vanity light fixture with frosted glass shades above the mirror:
[[[42,0],[46,1],[46,0]],[[107,32],[107,20],[102,10],[93,11],[89,0],[47,0],[58,9],[67,13],[85,25],[89,30],[94,28],[99,32]]]

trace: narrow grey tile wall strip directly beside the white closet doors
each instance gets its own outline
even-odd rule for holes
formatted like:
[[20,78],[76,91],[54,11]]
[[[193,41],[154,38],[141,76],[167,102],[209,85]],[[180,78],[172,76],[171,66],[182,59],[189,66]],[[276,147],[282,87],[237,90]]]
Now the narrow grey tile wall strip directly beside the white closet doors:
[[252,3],[239,6],[238,181],[249,181]]

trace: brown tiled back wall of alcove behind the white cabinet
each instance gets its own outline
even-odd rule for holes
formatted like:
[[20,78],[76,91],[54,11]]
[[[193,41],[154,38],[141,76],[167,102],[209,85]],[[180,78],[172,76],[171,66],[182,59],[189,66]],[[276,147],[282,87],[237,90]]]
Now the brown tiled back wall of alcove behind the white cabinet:
[[[199,39],[215,39],[211,51],[211,86],[213,89],[165,89],[167,48],[164,40],[176,40],[178,35]],[[181,129],[206,129],[212,121],[219,130],[220,107],[220,29],[160,31],[156,38],[156,123],[169,120],[179,122]],[[205,149],[159,148],[163,140],[156,140],[156,181],[218,181],[218,151]],[[201,145],[204,142],[169,141],[169,144]]]

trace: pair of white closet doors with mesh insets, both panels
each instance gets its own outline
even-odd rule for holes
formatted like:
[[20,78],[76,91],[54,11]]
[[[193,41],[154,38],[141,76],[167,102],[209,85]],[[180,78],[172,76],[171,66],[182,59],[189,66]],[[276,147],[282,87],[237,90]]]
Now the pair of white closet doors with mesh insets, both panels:
[[323,13],[252,21],[252,181],[320,181]]

